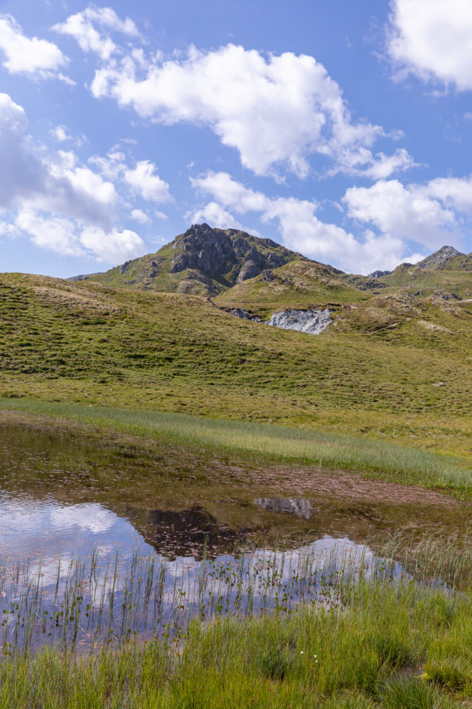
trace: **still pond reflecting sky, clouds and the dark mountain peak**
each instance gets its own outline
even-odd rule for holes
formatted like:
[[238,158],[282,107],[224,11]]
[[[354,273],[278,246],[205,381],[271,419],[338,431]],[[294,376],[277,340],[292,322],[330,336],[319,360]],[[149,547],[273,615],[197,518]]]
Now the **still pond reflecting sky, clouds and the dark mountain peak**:
[[179,636],[194,617],[337,604],[366,542],[470,524],[439,493],[340,471],[266,469],[4,415],[0,644],[89,649]]

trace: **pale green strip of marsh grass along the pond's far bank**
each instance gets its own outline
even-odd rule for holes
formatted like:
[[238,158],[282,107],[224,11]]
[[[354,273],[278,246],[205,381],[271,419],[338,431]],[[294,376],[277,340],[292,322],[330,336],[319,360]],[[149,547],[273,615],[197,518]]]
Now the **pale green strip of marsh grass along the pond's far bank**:
[[393,442],[279,425],[157,411],[0,398],[0,407],[164,440],[191,451],[232,453],[257,462],[288,462],[359,471],[374,479],[472,491],[472,468],[451,456]]

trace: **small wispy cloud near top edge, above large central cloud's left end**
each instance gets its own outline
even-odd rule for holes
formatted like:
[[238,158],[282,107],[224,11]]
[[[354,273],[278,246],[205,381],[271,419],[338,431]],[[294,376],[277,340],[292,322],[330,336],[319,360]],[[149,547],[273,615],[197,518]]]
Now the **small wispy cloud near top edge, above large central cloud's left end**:
[[74,37],[84,52],[96,52],[102,60],[107,60],[116,51],[116,45],[109,33],[100,33],[95,25],[108,32],[112,30],[132,37],[139,34],[135,23],[129,18],[120,20],[111,8],[99,8],[94,5],[69,16],[67,21],[58,23],[52,29]]

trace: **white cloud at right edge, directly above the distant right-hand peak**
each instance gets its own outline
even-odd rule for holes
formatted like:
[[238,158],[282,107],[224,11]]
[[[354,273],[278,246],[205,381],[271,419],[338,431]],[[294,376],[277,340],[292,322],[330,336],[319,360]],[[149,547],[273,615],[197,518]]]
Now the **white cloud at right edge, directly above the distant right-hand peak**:
[[350,187],[343,198],[349,216],[383,233],[427,247],[460,246],[463,215],[472,214],[472,178],[437,178],[404,186],[380,180],[371,187]]

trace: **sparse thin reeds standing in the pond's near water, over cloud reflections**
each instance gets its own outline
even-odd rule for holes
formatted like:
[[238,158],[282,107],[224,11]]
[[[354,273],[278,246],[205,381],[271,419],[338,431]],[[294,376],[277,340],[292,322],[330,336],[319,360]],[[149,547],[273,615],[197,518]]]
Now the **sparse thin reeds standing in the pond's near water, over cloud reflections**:
[[349,540],[296,549],[236,549],[203,558],[143,556],[47,559],[0,571],[0,647],[5,655],[50,644],[94,652],[105,644],[183,637],[192,620],[293,613],[300,603],[342,605],[359,575],[395,578],[393,559],[378,559]]

